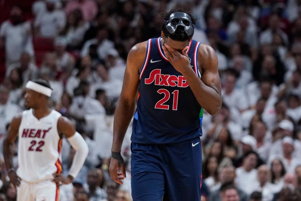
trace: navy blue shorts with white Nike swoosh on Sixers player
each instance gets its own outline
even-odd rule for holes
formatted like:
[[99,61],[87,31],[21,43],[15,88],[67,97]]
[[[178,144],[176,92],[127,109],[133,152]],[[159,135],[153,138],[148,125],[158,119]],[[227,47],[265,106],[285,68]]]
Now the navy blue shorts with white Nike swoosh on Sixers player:
[[131,144],[133,201],[199,201],[200,138],[174,144]]

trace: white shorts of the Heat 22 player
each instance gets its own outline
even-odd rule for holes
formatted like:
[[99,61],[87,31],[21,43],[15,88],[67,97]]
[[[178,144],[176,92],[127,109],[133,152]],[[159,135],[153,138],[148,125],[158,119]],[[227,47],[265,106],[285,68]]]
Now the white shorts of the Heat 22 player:
[[17,201],[59,201],[60,190],[50,180],[38,183],[21,181],[17,188]]

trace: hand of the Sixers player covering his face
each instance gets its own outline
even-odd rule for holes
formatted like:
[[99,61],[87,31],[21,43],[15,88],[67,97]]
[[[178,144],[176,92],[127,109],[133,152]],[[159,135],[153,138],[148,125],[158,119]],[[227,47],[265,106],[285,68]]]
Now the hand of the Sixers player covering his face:
[[174,48],[172,48],[171,46],[169,46],[167,44],[164,44],[164,46],[162,46],[162,49],[163,49],[164,54],[167,57],[168,61],[180,73],[191,68],[191,65],[189,63],[189,58],[186,53],[188,46],[186,46],[182,50],[182,53],[178,52],[177,50],[175,50]]

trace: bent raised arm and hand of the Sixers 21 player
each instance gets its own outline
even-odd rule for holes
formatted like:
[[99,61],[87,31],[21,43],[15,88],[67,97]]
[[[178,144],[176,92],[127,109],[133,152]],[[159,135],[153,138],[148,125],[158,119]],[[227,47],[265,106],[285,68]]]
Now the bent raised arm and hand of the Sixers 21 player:
[[186,46],[182,52],[178,52],[171,46],[165,44],[164,54],[177,71],[187,80],[198,103],[211,115],[219,112],[221,98],[221,84],[218,73],[218,60],[213,48],[201,44],[198,49],[198,68],[202,72],[201,79],[193,71],[188,60]]

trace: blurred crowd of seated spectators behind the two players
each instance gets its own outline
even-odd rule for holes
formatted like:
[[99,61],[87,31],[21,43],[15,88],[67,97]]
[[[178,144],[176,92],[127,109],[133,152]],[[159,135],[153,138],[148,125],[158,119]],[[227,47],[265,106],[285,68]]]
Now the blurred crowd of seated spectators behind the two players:
[[[89,145],[77,178],[61,186],[61,201],[132,200],[131,124],[124,184],[108,173],[126,57],[136,43],[159,37],[162,14],[178,8],[198,19],[193,39],[214,48],[222,83],[220,112],[203,116],[202,201],[301,200],[301,1],[12,2],[0,1],[1,10],[9,7],[0,21],[0,150],[13,116],[26,109],[24,84],[49,80],[50,107]],[[74,153],[64,139],[63,174]],[[0,158],[0,201],[15,200]]]

